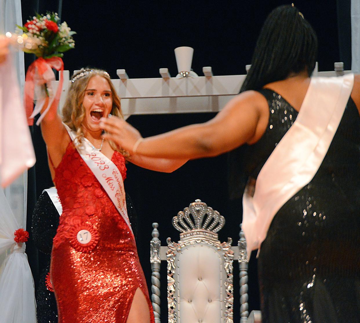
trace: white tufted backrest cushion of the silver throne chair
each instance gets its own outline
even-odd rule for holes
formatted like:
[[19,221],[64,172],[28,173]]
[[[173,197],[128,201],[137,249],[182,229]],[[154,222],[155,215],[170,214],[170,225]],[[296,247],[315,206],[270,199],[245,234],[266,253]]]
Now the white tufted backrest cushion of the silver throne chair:
[[[224,261],[222,252],[207,244],[183,247],[174,278],[179,323],[224,322]],[[224,295],[225,293],[225,295]]]

